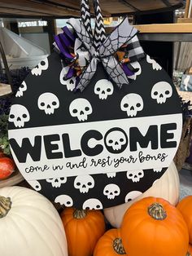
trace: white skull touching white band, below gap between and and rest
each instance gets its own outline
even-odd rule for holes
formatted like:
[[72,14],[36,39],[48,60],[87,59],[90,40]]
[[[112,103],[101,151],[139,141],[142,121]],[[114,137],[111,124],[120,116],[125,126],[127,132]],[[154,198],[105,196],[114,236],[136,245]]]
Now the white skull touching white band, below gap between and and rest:
[[81,193],[89,192],[90,188],[94,188],[94,178],[90,175],[79,175],[74,180],[74,187],[79,189]]

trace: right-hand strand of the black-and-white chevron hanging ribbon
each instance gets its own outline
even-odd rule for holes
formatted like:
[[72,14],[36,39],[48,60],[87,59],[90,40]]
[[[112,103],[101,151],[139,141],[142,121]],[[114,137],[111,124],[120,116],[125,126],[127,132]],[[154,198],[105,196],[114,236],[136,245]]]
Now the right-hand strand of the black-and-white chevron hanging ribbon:
[[105,28],[103,24],[103,15],[98,0],[94,0],[94,15],[95,15],[95,27],[94,27],[94,47],[98,47],[106,39]]

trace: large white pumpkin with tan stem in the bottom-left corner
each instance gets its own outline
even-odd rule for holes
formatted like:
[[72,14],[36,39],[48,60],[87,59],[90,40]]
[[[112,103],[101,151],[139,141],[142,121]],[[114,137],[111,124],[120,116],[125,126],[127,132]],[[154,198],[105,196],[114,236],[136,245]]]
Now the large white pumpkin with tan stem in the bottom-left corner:
[[2,256],[68,256],[63,223],[54,205],[28,188],[0,188]]

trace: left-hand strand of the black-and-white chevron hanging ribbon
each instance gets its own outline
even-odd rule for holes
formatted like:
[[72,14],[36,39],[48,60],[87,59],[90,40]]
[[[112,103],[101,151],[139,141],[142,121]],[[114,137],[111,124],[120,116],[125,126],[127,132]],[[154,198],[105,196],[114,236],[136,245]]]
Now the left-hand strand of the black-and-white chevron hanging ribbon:
[[92,35],[89,0],[81,0],[81,22],[89,35]]

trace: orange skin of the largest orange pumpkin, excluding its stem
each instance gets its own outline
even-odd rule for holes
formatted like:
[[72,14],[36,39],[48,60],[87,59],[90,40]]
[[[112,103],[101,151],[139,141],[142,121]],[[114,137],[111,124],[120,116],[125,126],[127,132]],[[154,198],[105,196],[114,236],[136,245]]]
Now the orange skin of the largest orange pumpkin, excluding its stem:
[[[149,208],[153,204],[154,207]],[[148,210],[155,213],[155,208],[165,210],[167,217],[151,217]],[[158,212],[165,215],[164,211]],[[176,207],[162,198],[146,197],[134,203],[124,214],[120,234],[129,256],[185,256],[189,245],[184,218]]]

